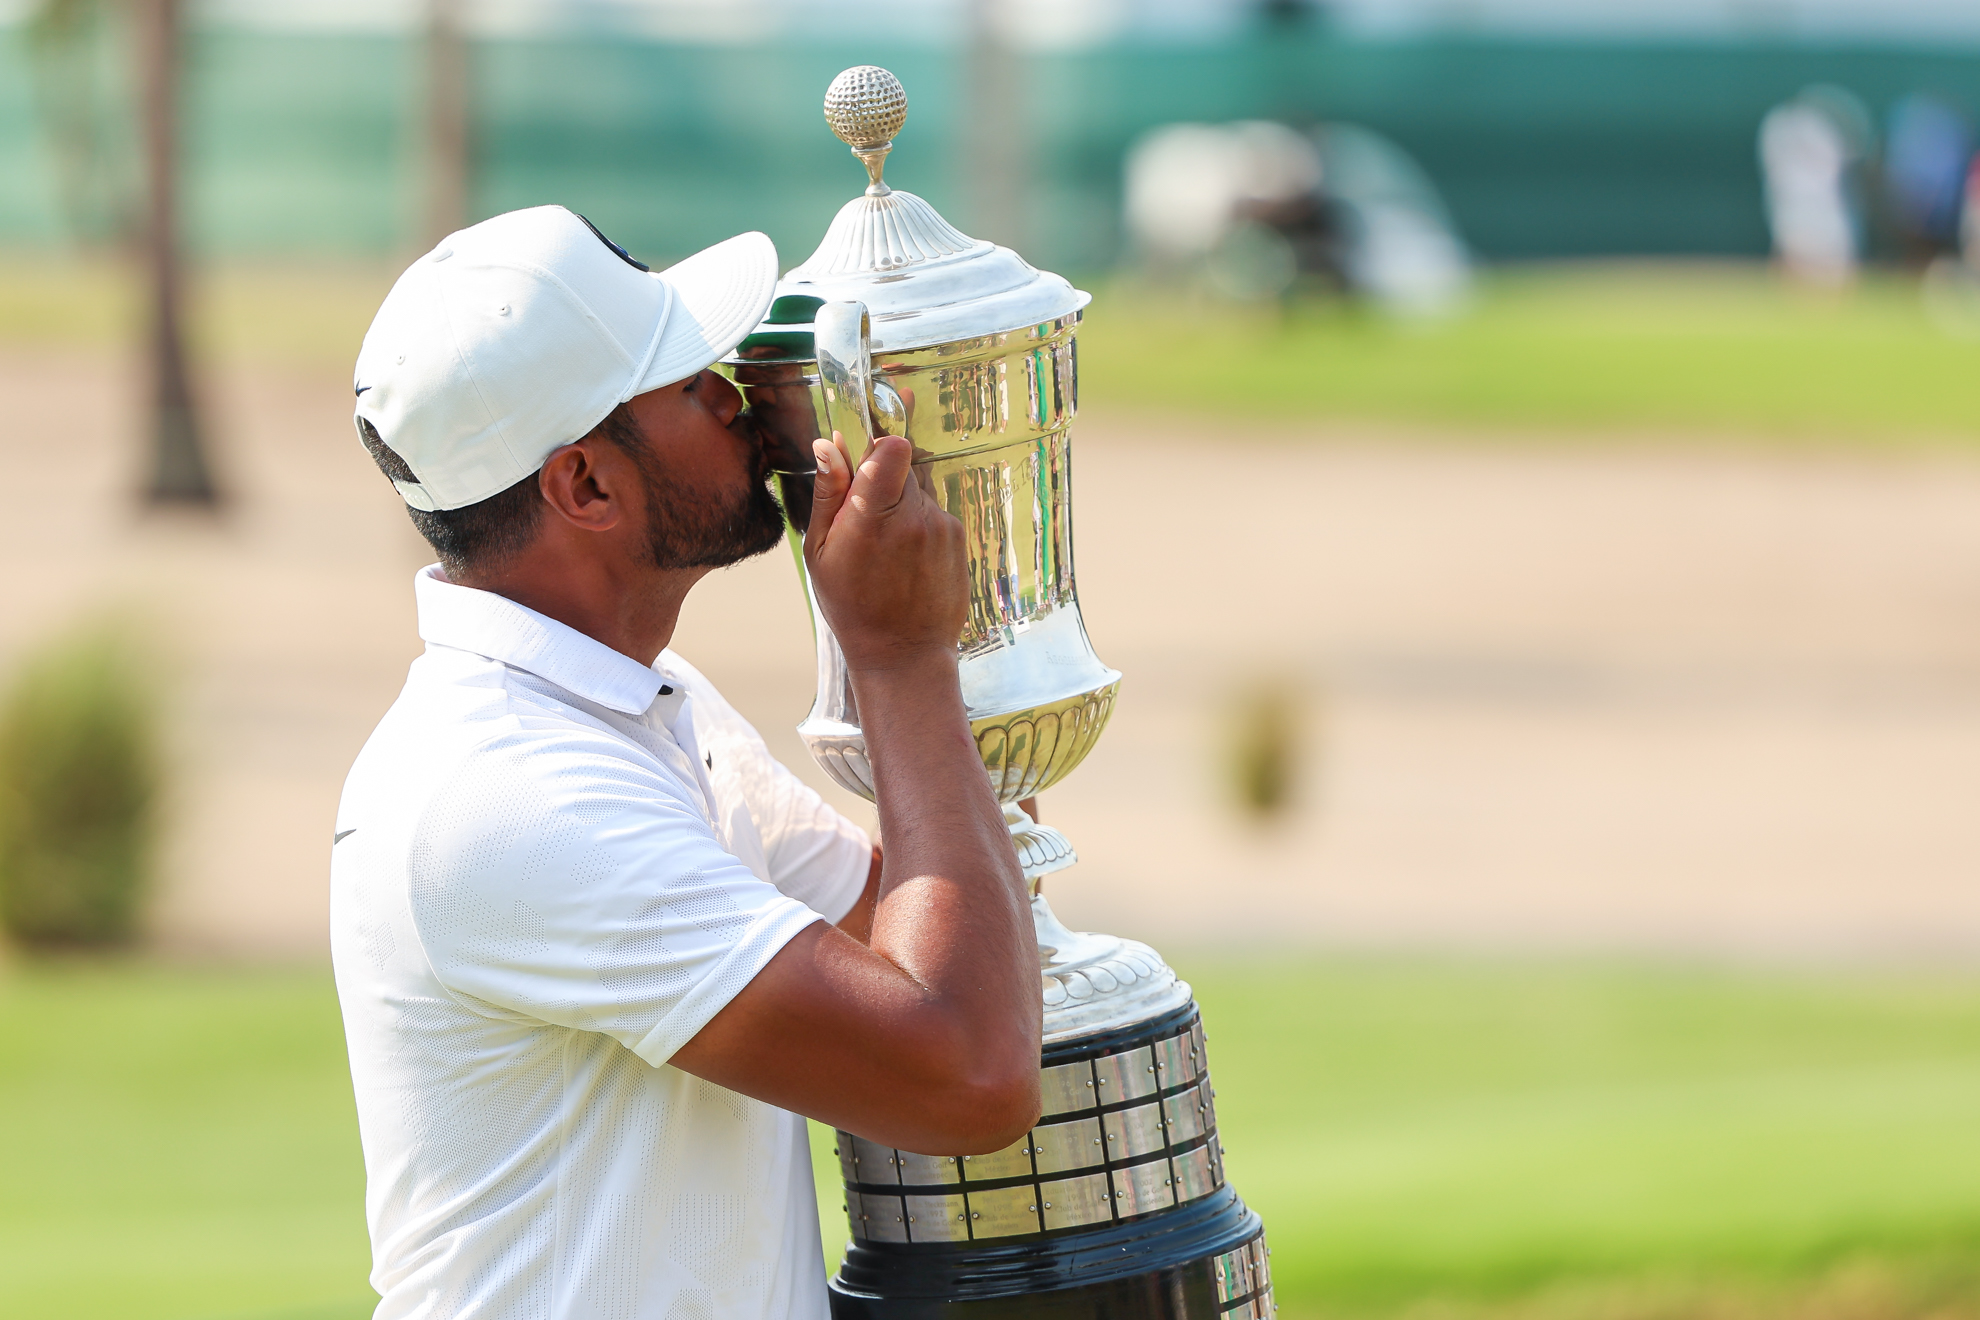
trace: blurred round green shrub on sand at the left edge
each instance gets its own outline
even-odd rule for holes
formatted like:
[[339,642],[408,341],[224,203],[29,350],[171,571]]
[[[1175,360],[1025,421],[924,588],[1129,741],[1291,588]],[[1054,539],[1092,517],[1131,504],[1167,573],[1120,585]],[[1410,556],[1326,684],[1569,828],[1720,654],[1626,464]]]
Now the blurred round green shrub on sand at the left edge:
[[129,633],[91,623],[0,697],[0,926],[28,946],[131,940],[158,794],[150,685]]

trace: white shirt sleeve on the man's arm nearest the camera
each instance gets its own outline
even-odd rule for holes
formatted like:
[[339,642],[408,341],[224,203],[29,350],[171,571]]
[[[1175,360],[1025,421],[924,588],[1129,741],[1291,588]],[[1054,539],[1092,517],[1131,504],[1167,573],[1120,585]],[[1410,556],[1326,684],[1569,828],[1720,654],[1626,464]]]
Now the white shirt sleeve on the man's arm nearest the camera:
[[509,732],[428,801],[412,920],[440,982],[497,1011],[673,1057],[820,912],[715,839],[612,738]]

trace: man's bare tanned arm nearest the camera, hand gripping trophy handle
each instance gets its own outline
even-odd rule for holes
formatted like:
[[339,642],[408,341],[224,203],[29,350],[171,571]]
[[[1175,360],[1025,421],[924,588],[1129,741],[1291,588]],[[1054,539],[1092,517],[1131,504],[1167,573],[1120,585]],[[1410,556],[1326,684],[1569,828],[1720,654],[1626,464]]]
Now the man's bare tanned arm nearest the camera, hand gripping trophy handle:
[[980,1154],[1038,1118],[1038,946],[956,681],[962,524],[881,437],[818,443],[804,558],[845,653],[881,833],[869,940],[790,940],[671,1063],[903,1150]]

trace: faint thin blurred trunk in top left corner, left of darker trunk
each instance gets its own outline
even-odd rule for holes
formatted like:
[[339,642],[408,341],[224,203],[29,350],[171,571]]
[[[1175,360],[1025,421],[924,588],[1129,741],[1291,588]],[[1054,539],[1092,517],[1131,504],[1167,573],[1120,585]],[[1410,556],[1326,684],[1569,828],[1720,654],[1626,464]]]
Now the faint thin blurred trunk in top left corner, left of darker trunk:
[[109,4],[40,0],[24,36],[63,230],[81,247],[121,247],[135,232],[135,206],[127,139],[111,121],[103,87]]

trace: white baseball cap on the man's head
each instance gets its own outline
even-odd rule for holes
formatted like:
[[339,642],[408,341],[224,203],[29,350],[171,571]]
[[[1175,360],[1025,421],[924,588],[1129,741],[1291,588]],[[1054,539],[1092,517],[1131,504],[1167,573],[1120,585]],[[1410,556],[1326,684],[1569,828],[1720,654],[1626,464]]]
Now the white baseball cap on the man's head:
[[774,291],[762,234],[649,271],[562,206],[495,216],[392,285],[358,350],[356,416],[418,477],[392,483],[408,505],[475,505],[725,356]]

